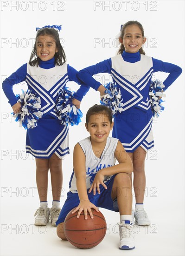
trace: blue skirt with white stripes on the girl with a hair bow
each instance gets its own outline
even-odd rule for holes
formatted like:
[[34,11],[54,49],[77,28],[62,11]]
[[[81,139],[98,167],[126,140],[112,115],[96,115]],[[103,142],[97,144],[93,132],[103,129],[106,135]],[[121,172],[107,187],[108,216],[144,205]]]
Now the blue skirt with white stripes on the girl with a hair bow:
[[26,153],[49,159],[54,153],[62,159],[69,154],[69,128],[55,118],[40,118],[38,126],[27,129]]

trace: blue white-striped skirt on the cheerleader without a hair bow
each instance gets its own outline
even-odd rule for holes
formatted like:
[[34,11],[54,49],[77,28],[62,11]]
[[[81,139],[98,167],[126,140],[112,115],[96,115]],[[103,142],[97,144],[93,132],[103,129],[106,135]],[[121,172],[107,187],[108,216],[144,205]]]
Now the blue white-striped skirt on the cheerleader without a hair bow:
[[127,152],[139,146],[150,150],[154,147],[152,122],[151,109],[130,108],[115,115],[112,137],[119,139]]

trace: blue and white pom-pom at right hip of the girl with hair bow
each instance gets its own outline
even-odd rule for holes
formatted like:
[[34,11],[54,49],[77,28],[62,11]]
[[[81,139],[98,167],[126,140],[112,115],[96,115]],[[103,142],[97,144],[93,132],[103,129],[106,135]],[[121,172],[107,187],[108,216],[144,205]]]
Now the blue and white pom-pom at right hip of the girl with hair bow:
[[56,109],[58,119],[63,125],[78,125],[83,117],[81,110],[72,103],[74,93],[68,90],[68,87],[58,90]]

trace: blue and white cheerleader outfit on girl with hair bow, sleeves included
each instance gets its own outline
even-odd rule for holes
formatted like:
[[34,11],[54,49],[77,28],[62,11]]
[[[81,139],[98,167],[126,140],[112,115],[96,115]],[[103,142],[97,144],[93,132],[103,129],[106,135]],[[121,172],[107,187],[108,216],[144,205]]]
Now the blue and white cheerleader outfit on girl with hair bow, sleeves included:
[[[3,90],[8,102],[13,106],[17,98],[13,94],[13,85],[26,81],[33,94],[41,98],[43,116],[38,120],[35,128],[27,129],[26,152],[36,158],[50,158],[54,153],[61,159],[69,154],[69,129],[62,125],[57,118],[56,98],[59,88],[64,88],[68,81],[80,84],[77,70],[64,63],[62,66],[55,64],[55,59],[40,61],[39,66],[24,64],[10,77],[3,81]],[[74,97],[82,101],[89,88],[81,86]]]

